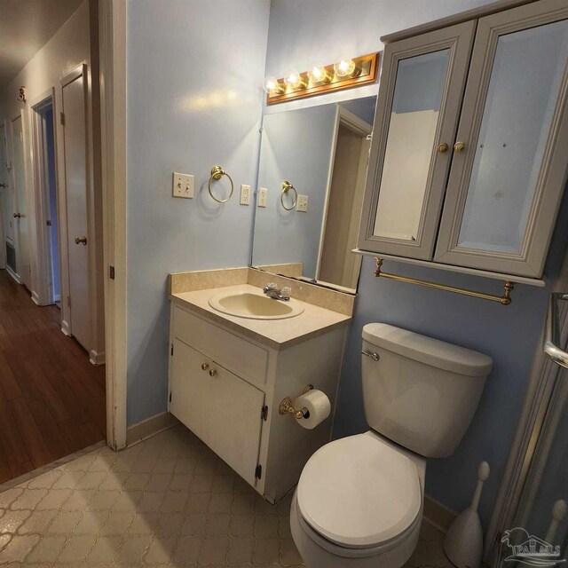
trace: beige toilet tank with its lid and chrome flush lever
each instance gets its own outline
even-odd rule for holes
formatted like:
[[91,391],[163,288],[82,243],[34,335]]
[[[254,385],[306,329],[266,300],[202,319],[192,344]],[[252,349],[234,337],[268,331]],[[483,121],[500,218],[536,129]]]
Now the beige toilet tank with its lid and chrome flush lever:
[[416,454],[454,454],[476,412],[493,360],[383,323],[363,327],[361,357],[369,426]]

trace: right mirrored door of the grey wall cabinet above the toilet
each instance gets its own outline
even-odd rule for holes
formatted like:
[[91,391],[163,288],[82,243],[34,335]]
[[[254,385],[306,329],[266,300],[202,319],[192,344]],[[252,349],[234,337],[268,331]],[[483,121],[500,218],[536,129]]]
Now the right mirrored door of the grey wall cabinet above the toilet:
[[478,20],[435,260],[539,278],[568,153],[568,4]]

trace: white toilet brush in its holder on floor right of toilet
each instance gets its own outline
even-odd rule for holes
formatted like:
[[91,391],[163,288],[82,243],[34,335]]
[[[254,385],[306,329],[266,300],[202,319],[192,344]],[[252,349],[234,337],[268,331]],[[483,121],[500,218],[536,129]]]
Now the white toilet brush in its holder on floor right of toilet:
[[458,568],[479,568],[481,565],[483,532],[477,507],[487,477],[489,477],[489,464],[482,461],[477,468],[477,485],[471,505],[454,519],[444,540],[446,556]]

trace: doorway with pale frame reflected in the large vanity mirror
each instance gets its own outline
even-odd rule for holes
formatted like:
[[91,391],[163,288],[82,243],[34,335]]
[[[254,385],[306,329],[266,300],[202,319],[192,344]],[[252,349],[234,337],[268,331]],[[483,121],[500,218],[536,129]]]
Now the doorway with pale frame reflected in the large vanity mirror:
[[334,282],[343,288],[355,289],[359,280],[361,257],[353,255],[351,250],[357,248],[371,131],[370,124],[339,107],[333,173],[316,279]]

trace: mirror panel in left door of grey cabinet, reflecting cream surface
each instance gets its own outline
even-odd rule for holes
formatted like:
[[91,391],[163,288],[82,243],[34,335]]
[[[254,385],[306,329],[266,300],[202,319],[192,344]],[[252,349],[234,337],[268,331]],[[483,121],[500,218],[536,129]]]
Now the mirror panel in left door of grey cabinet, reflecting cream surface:
[[448,49],[398,62],[376,211],[377,237],[418,239],[449,55]]

